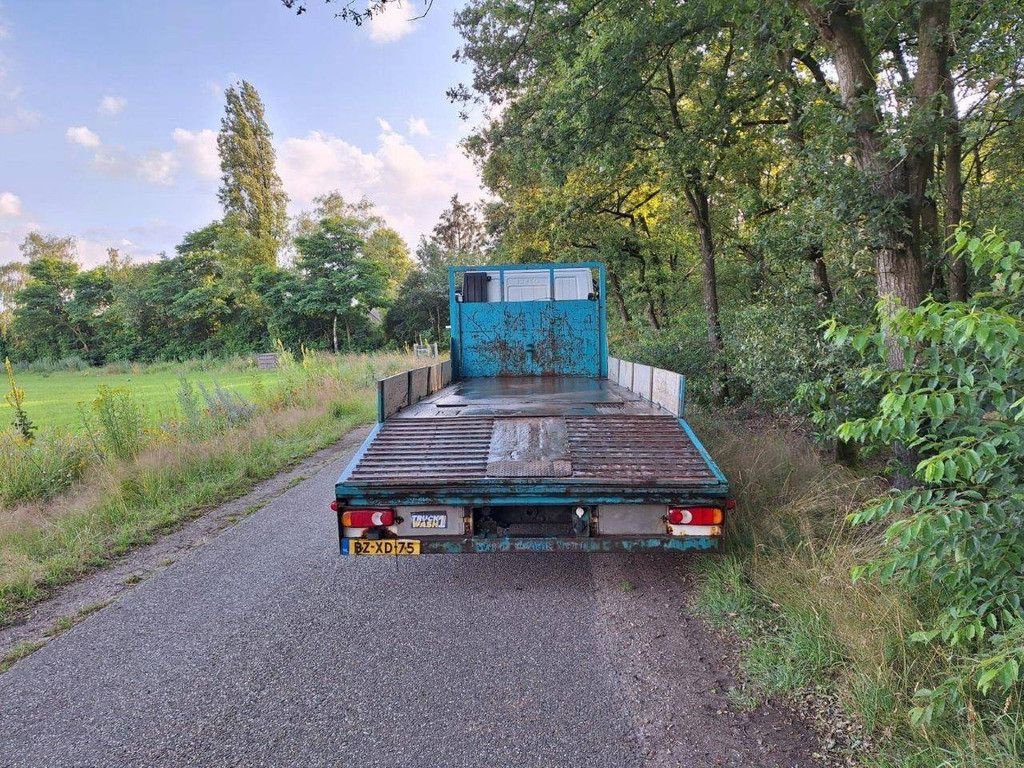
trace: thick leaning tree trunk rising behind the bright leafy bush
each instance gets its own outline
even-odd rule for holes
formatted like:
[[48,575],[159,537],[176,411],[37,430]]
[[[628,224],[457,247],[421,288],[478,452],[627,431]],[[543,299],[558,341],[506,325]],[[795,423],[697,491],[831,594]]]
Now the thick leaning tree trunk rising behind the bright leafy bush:
[[[901,210],[903,213],[902,216],[879,216],[872,222],[877,238],[874,267],[879,298],[914,307],[924,298],[925,288],[921,251],[913,238],[914,226],[906,203],[910,193],[909,173],[906,164],[893,162],[884,153],[874,56],[867,46],[863,19],[849,0],[837,0],[825,8],[811,0],[800,0],[800,5],[835,54],[843,103],[854,125],[857,167],[871,185],[879,210]],[[890,367],[902,368],[903,362],[899,347],[890,345]]]

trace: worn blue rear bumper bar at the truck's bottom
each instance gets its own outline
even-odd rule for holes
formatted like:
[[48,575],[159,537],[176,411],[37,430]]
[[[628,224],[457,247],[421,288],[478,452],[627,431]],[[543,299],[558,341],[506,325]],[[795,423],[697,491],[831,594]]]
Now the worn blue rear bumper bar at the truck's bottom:
[[[347,539],[341,540],[341,554],[347,555]],[[498,552],[644,552],[653,550],[714,550],[718,537],[601,537],[558,539],[553,537],[430,537],[420,539],[424,555],[493,554]]]

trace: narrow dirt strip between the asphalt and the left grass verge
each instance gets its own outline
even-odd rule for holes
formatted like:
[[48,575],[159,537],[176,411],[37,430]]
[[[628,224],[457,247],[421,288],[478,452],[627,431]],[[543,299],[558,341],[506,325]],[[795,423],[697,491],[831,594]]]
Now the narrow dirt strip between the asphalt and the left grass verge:
[[[245,496],[203,511],[153,544],[132,550],[110,565],[61,587],[52,597],[26,608],[13,624],[0,628],[0,659],[20,657],[105,607],[186,552],[202,547],[220,531],[262,509],[290,487],[314,474],[339,455],[355,451],[369,427],[354,429],[339,442],[303,459],[290,470],[258,483]],[[325,500],[325,504],[328,500]],[[3,671],[0,662],[0,672]]]

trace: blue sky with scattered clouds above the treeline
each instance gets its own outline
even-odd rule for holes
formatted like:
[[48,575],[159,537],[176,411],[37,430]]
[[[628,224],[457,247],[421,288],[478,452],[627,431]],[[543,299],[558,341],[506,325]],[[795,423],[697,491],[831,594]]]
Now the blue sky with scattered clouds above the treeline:
[[444,95],[469,79],[455,0],[361,28],[304,4],[0,0],[0,263],[32,230],[73,236],[85,265],[109,247],[155,258],[219,218],[216,132],[241,79],[266,106],[291,213],[366,196],[415,248],[452,195],[478,199],[459,148],[472,125]]

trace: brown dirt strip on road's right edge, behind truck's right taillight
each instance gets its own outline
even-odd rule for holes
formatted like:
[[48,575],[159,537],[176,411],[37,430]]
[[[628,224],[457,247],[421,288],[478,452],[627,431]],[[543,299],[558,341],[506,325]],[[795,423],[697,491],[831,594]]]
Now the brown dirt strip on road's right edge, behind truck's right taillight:
[[[811,768],[830,761],[786,703],[739,706],[735,649],[688,608],[695,577],[672,555],[591,558],[600,632],[651,768]],[[688,588],[688,585],[690,587]]]

